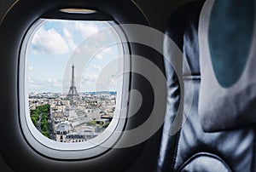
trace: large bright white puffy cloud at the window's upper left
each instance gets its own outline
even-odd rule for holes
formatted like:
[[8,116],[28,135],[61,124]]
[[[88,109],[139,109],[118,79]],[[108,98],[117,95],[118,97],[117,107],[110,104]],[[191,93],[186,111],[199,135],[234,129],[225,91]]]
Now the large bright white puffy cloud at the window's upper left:
[[32,49],[46,54],[67,54],[69,51],[65,39],[53,28],[48,31],[45,31],[44,28],[38,29],[32,38]]

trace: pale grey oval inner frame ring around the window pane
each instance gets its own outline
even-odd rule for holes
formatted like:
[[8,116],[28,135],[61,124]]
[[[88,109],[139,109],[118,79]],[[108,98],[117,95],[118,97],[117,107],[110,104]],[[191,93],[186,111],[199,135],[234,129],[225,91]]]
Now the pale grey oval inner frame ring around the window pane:
[[[82,14],[83,15],[83,14]],[[84,14],[86,15],[86,14]],[[47,16],[47,14],[44,14]],[[64,16],[65,17],[65,16]],[[93,18],[92,18],[93,19]],[[91,20],[92,20],[91,19]],[[108,18],[109,19],[109,18]],[[84,158],[92,158],[96,157],[103,152],[107,152],[108,149],[111,148],[115,144],[116,141],[119,140],[121,132],[115,132],[116,130],[122,131],[125,128],[125,118],[127,116],[127,110],[124,110],[125,103],[128,102],[128,92],[130,87],[123,87],[124,85],[130,84],[129,75],[123,75],[123,83],[122,88],[119,88],[119,94],[117,95],[117,103],[116,106],[120,106],[122,111],[115,111],[114,118],[110,125],[108,126],[108,130],[112,132],[103,132],[101,135],[96,136],[96,138],[84,142],[78,143],[62,143],[57,142],[55,140],[49,140],[36,129],[32,120],[29,117],[28,113],[28,92],[27,92],[27,57],[26,57],[26,49],[28,43],[31,42],[32,36],[37,32],[38,28],[45,22],[45,17],[39,18],[26,32],[26,36],[21,43],[20,50],[20,65],[19,65],[19,99],[20,99],[20,126],[23,131],[24,136],[28,143],[41,154],[49,158],[56,159],[84,159]],[[123,55],[127,55],[130,53],[129,46],[127,44],[127,39],[125,38],[125,33],[122,32],[121,28],[118,28],[116,25],[116,21],[107,21],[108,25],[111,27],[114,25],[113,30],[115,30],[115,34],[119,37],[121,41],[121,46],[123,48]],[[123,71],[127,71],[130,66],[130,60],[125,59],[122,61]],[[125,93],[125,94],[123,94]],[[126,105],[127,106],[127,105]]]

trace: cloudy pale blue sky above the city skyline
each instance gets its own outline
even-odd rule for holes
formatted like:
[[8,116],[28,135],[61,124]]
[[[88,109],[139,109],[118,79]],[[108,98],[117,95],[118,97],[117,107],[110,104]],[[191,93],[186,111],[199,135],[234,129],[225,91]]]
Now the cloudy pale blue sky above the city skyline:
[[26,47],[28,92],[67,93],[72,65],[79,93],[116,90],[122,49],[108,27],[104,21],[45,20]]

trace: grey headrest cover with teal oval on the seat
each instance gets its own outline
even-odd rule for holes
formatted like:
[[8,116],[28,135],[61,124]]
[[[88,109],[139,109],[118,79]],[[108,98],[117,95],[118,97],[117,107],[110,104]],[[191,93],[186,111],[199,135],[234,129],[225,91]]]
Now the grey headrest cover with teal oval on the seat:
[[201,10],[199,115],[205,131],[256,122],[255,0],[207,0]]

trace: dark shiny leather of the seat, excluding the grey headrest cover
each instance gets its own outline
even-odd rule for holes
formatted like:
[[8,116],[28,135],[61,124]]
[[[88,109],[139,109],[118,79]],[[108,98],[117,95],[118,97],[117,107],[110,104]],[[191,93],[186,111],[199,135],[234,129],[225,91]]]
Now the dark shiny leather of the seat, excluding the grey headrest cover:
[[[166,38],[164,55],[172,63],[165,60],[168,95],[157,171],[255,171],[252,126],[207,133],[200,123],[198,22],[203,4],[195,1],[177,9],[166,26],[166,37],[183,51],[183,58],[171,55]],[[177,132],[172,132],[173,127]]]

